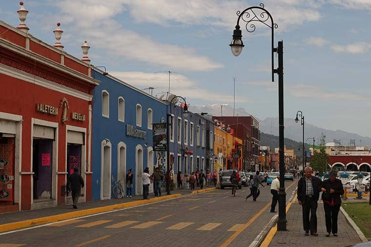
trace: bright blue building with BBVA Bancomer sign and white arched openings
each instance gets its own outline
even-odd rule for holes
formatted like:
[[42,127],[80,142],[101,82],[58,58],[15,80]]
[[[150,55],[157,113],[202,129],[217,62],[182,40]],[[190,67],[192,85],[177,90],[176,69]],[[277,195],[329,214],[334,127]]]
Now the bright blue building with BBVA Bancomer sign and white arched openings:
[[142,194],[144,168],[152,173],[157,160],[165,162],[152,149],[152,123],[165,121],[167,105],[98,69],[93,77],[101,84],[93,95],[92,199],[112,198],[112,187],[117,180],[125,183],[128,169],[132,194]]

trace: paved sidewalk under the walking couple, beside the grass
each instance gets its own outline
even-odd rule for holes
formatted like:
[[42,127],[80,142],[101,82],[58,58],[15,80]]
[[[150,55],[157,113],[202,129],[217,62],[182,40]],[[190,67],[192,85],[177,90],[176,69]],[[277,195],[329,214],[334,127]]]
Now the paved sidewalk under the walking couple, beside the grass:
[[339,212],[338,216],[338,237],[332,234],[330,237],[325,237],[326,223],[325,223],[325,210],[323,203],[318,200],[317,209],[317,230],[318,236],[305,236],[303,230],[303,217],[302,207],[295,201],[287,215],[288,231],[277,231],[274,235],[269,247],[277,246],[336,246],[343,247],[352,244],[361,243],[361,239],[350,226],[345,216]]

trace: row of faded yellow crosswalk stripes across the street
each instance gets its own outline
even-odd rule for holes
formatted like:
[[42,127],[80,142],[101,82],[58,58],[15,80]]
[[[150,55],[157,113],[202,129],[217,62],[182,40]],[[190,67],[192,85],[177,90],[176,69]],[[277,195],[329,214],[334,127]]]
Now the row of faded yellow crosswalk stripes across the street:
[[[92,221],[92,222],[85,222],[86,220],[83,219],[75,219],[75,220],[70,220],[70,221],[64,221],[64,222],[58,222],[54,223],[51,225],[48,225],[49,227],[63,227],[67,225],[75,225],[75,228],[91,228],[91,227],[96,227],[96,226],[101,226],[103,228],[124,228],[128,227],[131,229],[145,229],[145,228],[150,228],[155,225],[160,225],[162,223],[165,223],[164,221],[160,221],[160,219],[165,219],[168,217],[171,217],[172,215],[166,215],[164,217],[161,217],[155,221],[147,221],[147,222],[140,222],[140,221],[135,221],[135,220],[125,220],[123,222],[115,223],[115,224],[108,224],[112,223],[113,220],[97,220],[97,221]],[[85,223],[84,223],[85,222]],[[83,224],[80,224],[83,223]],[[167,230],[181,230],[186,227],[189,227],[191,225],[196,224],[195,222],[179,222],[176,223],[175,225],[172,225],[170,227],[166,227],[165,229]],[[215,222],[209,222],[201,226],[197,226],[196,230],[202,230],[202,231],[207,231],[207,230],[213,230],[217,227],[222,226],[222,223],[215,223]],[[231,226],[230,228],[227,229],[227,231],[237,231],[239,228],[244,226],[244,224],[235,224]],[[1,247],[1,245],[0,245]]]

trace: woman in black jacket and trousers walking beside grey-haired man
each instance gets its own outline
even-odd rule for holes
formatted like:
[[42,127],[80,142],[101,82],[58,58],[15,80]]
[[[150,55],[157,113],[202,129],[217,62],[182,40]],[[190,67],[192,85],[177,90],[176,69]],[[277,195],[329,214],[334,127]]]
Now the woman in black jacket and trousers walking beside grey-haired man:
[[330,178],[322,182],[322,200],[326,218],[326,237],[332,234],[337,237],[337,216],[339,214],[341,199],[344,194],[343,184],[336,178],[336,171],[330,171]]

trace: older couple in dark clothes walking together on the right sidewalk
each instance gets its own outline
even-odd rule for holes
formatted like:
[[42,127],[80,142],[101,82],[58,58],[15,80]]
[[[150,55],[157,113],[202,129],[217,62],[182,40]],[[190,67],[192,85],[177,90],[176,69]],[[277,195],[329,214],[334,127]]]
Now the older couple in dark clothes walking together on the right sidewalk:
[[316,176],[312,175],[312,169],[306,167],[305,176],[299,179],[297,198],[299,205],[303,208],[303,227],[306,236],[318,236],[317,233],[317,208],[319,194],[322,191],[323,207],[325,209],[326,237],[337,237],[337,217],[339,214],[341,199],[344,194],[343,184],[337,179],[337,172],[330,171],[330,177],[323,182]]

